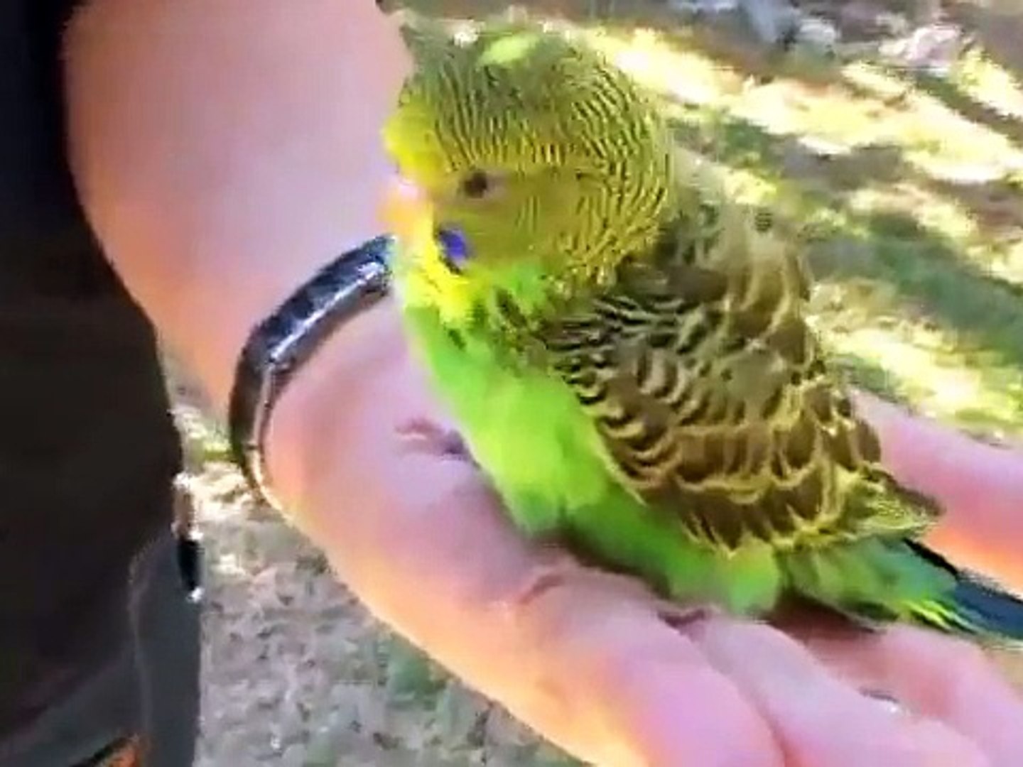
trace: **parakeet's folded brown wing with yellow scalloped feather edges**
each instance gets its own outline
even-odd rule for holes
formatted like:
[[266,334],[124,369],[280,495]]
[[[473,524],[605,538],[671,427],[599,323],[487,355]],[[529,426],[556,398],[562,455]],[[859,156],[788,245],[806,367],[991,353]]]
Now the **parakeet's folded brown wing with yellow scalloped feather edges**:
[[695,210],[542,331],[623,484],[729,550],[926,527],[936,508],[882,468],[830,374],[798,255],[731,207]]

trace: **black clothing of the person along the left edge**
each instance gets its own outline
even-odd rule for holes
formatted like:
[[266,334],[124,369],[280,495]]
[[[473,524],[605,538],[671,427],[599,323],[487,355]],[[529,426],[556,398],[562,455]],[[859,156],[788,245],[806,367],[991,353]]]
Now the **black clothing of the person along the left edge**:
[[0,0],[0,740],[123,650],[180,463],[152,328],[66,168],[73,4]]

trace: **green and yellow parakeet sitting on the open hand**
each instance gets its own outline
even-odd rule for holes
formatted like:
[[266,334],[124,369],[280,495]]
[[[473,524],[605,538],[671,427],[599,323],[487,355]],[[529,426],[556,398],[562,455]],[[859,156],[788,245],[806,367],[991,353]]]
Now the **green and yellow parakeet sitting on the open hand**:
[[1023,602],[918,542],[939,509],[882,465],[797,249],[627,75],[525,24],[409,43],[396,289],[521,529],[679,602],[1023,640]]

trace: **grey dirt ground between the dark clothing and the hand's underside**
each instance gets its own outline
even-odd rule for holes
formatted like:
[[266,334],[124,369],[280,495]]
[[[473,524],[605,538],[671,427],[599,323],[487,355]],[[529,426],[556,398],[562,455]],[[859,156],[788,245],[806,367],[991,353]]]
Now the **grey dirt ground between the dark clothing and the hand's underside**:
[[375,623],[253,502],[202,395],[168,366],[207,550],[197,767],[573,764]]

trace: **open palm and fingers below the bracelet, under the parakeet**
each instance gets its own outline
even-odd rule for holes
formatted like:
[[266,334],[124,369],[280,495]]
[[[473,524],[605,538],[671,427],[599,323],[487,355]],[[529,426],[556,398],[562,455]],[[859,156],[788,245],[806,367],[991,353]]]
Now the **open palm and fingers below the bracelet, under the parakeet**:
[[315,424],[271,442],[292,446],[270,459],[282,487],[303,489],[300,523],[380,618],[570,753],[611,767],[1020,763],[1023,705],[959,641],[805,617],[678,630],[642,589],[581,566],[523,598],[548,552],[449,441],[431,451],[397,434],[437,416],[390,310],[343,336],[276,416],[283,432]]

